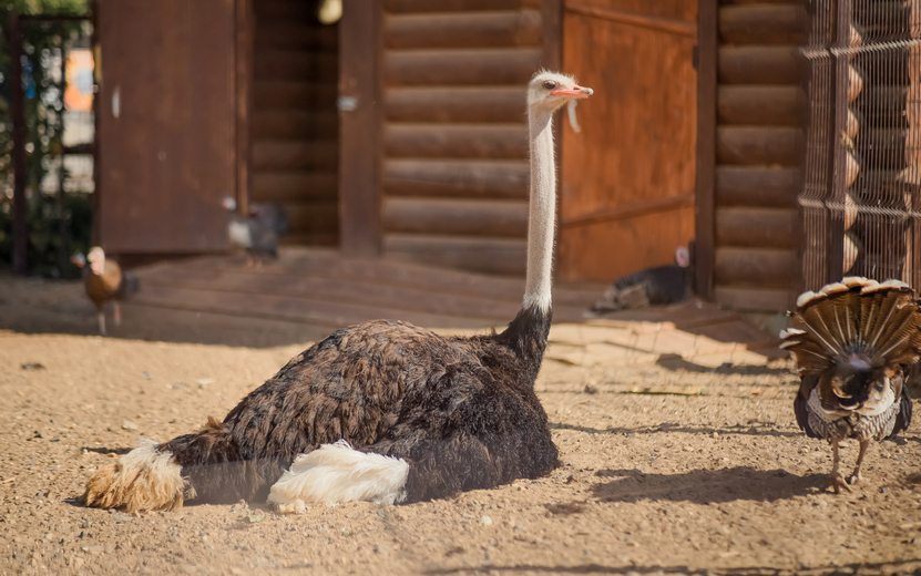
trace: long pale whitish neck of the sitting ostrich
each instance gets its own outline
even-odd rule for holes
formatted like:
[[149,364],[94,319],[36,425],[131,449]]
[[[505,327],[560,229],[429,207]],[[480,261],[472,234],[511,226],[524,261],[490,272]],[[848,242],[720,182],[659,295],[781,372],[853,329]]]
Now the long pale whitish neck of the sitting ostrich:
[[556,214],[556,165],[553,160],[552,112],[532,106],[528,114],[531,131],[531,203],[528,215],[528,278],[523,308],[549,312],[553,227]]

